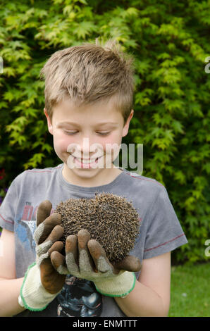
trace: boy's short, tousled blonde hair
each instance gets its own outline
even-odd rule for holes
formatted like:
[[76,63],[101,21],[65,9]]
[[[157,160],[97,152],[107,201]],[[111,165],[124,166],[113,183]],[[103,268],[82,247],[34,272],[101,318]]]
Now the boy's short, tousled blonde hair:
[[114,96],[124,123],[133,102],[133,59],[109,40],[104,44],[71,46],[51,55],[40,71],[45,80],[45,108],[52,118],[53,107],[70,98],[77,106],[108,100]]

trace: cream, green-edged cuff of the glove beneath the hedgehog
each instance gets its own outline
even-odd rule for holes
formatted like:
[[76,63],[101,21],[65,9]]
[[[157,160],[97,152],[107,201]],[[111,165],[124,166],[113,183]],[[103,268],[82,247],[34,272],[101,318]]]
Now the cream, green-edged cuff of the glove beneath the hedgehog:
[[101,282],[94,282],[97,291],[106,296],[127,296],[135,287],[136,277],[135,273],[130,271],[123,271],[117,277],[109,278],[109,280],[102,280]]

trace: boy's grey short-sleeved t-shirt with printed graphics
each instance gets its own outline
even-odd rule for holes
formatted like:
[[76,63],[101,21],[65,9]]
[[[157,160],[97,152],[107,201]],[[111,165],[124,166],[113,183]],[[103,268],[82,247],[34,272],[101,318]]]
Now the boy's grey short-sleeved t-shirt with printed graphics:
[[[140,235],[130,254],[140,258],[159,256],[187,243],[165,187],[148,177],[122,169],[113,182],[98,187],[80,187],[67,182],[63,163],[55,168],[25,170],[8,189],[0,206],[0,226],[15,232],[16,277],[23,277],[35,262],[36,213],[39,204],[48,199],[52,211],[70,198],[92,198],[95,192],[123,196],[137,209]],[[135,273],[140,277],[140,273]],[[125,316],[116,301],[99,294],[92,282],[72,275],[56,299],[44,311],[23,311],[18,316]]]

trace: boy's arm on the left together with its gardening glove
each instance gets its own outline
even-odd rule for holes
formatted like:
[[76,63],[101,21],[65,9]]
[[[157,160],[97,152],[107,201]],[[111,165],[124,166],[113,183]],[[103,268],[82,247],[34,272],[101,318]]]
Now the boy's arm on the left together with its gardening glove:
[[[59,275],[51,264],[51,253],[61,251],[63,243],[58,239],[63,235],[61,216],[50,215],[50,201],[43,201],[37,210],[35,230],[36,263],[27,269],[25,277],[16,279],[14,234],[3,230],[0,238],[0,316],[13,316],[25,308],[41,311],[61,291],[65,276]],[[21,296],[23,303],[18,304]]]

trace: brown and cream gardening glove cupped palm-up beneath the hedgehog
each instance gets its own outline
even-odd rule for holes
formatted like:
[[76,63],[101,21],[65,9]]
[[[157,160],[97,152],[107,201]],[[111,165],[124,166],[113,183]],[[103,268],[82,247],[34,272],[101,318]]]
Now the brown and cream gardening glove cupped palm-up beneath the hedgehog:
[[126,256],[118,263],[110,263],[99,242],[90,239],[87,230],[80,230],[78,236],[66,239],[66,258],[58,251],[51,254],[54,268],[61,274],[71,274],[91,280],[98,292],[106,296],[127,296],[135,287],[135,271],[140,261],[135,256]]

